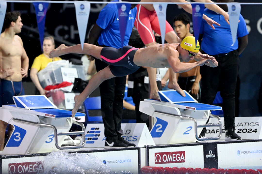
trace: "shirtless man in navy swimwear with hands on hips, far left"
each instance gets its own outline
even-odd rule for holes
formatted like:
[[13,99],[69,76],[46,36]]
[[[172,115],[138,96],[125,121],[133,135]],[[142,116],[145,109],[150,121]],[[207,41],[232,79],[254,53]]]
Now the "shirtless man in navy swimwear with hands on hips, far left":
[[[1,106],[14,104],[14,95],[24,95],[22,78],[27,77],[29,58],[26,55],[22,39],[15,34],[21,32],[23,26],[19,11],[6,13],[4,32],[0,35],[1,66]],[[4,135],[7,123],[0,120],[0,151],[4,146]]]

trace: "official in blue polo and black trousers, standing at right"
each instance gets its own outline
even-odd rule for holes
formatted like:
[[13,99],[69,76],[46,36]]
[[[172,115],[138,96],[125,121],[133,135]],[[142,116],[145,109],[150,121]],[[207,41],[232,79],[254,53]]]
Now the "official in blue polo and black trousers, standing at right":
[[[216,0],[216,2],[233,2],[232,0]],[[228,11],[226,4],[218,4],[223,10]],[[230,25],[224,16],[214,11],[205,9],[204,14],[212,20],[220,23],[216,29],[212,29],[206,21],[202,20],[199,42],[202,53],[214,56],[218,62],[216,68],[208,66],[200,67],[202,76],[201,103],[212,104],[217,91],[223,98],[222,109],[225,119],[225,140],[241,140],[234,130],[235,121],[235,90],[239,70],[239,55],[248,44],[248,30],[243,16],[240,14],[237,29],[237,38],[233,46]],[[201,39],[203,40],[201,41]]]

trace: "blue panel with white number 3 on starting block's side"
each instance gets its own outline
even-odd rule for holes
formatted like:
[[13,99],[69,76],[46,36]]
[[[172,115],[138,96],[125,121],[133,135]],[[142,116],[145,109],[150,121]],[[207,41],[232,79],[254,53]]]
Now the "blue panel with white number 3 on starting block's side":
[[6,147],[19,147],[22,140],[24,139],[26,130],[14,125],[14,131],[11,135]]

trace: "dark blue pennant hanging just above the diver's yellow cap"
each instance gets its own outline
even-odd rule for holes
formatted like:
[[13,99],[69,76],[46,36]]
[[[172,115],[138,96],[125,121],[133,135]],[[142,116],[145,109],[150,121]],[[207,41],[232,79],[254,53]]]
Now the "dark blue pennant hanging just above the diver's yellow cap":
[[192,5],[193,30],[194,30],[195,42],[197,43],[202,17],[205,9],[205,4],[193,3],[191,5]]

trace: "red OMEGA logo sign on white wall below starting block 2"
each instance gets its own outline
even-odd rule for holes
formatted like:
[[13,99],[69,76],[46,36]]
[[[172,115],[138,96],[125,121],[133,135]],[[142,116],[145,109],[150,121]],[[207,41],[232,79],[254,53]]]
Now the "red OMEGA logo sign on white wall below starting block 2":
[[184,163],[185,151],[155,153],[155,164]]

